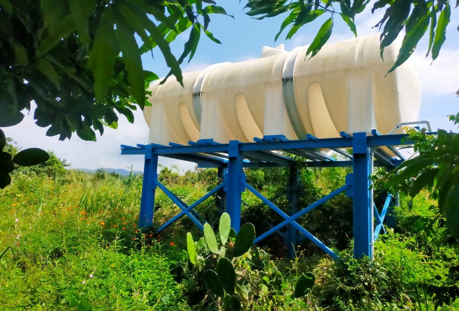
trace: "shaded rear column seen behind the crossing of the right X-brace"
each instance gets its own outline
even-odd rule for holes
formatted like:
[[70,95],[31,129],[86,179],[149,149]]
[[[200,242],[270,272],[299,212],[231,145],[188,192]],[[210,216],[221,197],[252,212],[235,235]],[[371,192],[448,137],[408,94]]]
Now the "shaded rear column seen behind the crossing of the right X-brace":
[[[289,200],[289,216],[293,216],[298,212],[298,199],[300,192],[300,181],[298,167],[290,166],[289,183],[287,184],[287,198]],[[295,258],[295,248],[298,237],[298,230],[293,224],[288,225],[287,249],[289,258]]]

